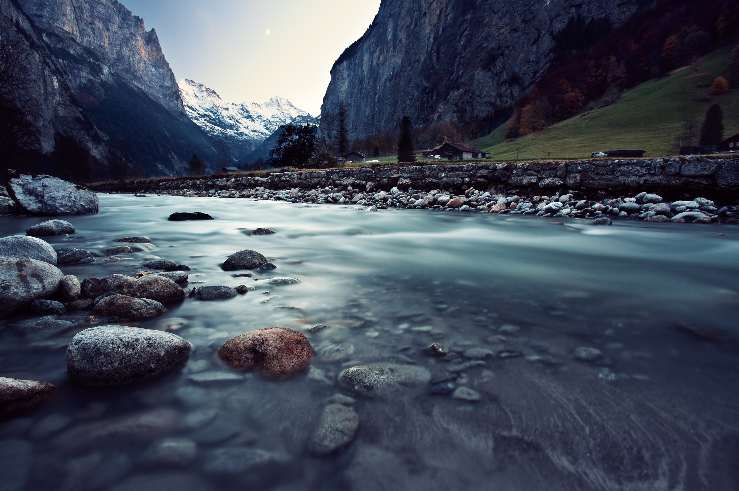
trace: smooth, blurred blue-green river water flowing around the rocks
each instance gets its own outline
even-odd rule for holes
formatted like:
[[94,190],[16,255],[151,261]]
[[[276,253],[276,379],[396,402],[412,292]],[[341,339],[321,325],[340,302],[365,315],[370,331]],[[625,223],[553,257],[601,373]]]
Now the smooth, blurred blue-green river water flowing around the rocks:
[[[0,426],[0,490],[739,489],[739,227],[165,196],[101,195],[100,208],[67,218],[78,238],[50,243],[95,251],[145,236],[155,247],[65,274],[133,274],[155,254],[191,266],[191,288],[256,289],[139,322],[181,325],[194,349],[184,368],[122,387],[68,381],[64,350],[82,327],[38,339],[18,330],[30,315],[1,320],[0,376],[58,393]],[[215,220],[168,222],[174,211]],[[40,221],[3,219],[0,234]],[[256,227],[277,233],[243,233]],[[246,248],[277,268],[219,268]],[[276,276],[301,283],[262,282]],[[307,332],[318,324],[330,328]],[[226,339],[274,325],[307,334],[310,372],[274,382],[219,363]],[[450,354],[427,356],[432,342]],[[576,360],[583,346],[602,357]],[[460,365],[470,353],[482,360]],[[321,409],[352,395],[337,378],[354,365],[393,366],[406,384],[358,397],[353,441],[312,456]],[[429,377],[480,400],[432,393]],[[193,441],[197,457],[151,458],[161,438]],[[259,452],[228,453],[245,448]]]

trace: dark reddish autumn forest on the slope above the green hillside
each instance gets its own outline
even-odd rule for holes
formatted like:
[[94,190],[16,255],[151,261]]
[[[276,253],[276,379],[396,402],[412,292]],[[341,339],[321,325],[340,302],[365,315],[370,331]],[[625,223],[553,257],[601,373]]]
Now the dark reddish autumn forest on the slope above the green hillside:
[[[582,19],[579,22],[582,24]],[[726,0],[663,1],[612,31],[588,30],[586,26],[590,34],[579,41],[581,50],[556,62],[518,101],[505,138],[527,135],[571,118],[598,98],[602,104],[611,104],[625,89],[675,68],[697,67],[698,58],[729,42],[738,27],[739,4]],[[574,33],[579,28],[582,25],[571,30]],[[566,28],[562,33],[568,32]],[[603,34],[601,38],[594,37],[598,32]],[[576,39],[573,35],[565,38],[567,42],[555,38],[559,48]],[[593,44],[582,44],[586,41]],[[566,52],[559,49],[558,53],[562,51]],[[726,82],[739,87],[739,53],[732,53]]]

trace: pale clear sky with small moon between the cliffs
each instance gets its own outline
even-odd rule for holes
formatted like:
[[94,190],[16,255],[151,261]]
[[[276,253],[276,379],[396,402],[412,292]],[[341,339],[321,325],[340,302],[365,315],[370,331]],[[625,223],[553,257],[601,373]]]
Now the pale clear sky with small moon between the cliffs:
[[380,0],[121,0],[157,30],[177,80],[191,78],[225,102],[275,95],[321,112],[330,70],[364,34]]

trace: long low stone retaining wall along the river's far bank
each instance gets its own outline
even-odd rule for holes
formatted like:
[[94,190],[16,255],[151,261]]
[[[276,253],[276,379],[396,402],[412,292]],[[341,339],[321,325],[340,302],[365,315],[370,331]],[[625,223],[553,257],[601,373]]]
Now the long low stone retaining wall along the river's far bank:
[[422,165],[399,169],[332,169],[326,171],[275,172],[268,177],[222,177],[219,179],[133,180],[125,186],[105,183],[94,186],[101,192],[167,192],[190,189],[316,189],[352,186],[367,191],[399,189],[465,189],[491,193],[554,194],[579,192],[593,199],[633,196],[656,192],[668,200],[704,196],[717,202],[739,198],[739,159],[709,160],[701,157],[656,158],[653,160],[572,160],[537,163],[467,163]]

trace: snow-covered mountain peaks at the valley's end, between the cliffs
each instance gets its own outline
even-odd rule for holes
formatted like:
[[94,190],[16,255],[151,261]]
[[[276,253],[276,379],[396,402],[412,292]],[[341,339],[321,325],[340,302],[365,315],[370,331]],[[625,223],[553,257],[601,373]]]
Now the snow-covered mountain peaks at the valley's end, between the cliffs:
[[187,115],[225,147],[233,163],[243,163],[279,126],[294,120],[317,121],[284,97],[273,97],[264,104],[230,104],[223,102],[213,89],[188,78],[178,84]]

